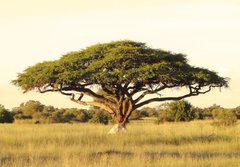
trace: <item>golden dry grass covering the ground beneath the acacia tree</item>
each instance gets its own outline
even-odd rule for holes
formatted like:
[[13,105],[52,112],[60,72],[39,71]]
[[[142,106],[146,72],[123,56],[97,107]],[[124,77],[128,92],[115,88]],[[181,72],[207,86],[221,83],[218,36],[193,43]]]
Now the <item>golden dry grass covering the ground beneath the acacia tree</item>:
[[240,124],[211,123],[134,122],[118,135],[112,125],[1,124],[0,166],[240,166]]

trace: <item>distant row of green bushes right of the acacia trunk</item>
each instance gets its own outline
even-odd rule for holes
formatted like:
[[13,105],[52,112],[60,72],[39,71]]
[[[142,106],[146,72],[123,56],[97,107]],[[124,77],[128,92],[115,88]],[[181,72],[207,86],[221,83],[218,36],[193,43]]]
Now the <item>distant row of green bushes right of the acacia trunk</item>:
[[199,108],[186,100],[180,100],[164,103],[156,108],[145,107],[132,114],[132,119],[143,117],[156,117],[156,123],[211,119],[217,125],[234,125],[240,119],[240,106],[226,109],[214,104]]

